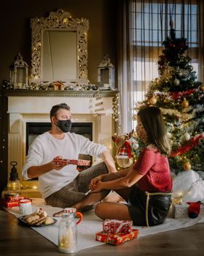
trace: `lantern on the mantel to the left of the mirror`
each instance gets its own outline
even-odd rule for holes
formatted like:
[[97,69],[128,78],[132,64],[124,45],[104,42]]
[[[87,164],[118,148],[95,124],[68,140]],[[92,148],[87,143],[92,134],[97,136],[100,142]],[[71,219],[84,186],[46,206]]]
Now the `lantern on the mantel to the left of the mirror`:
[[15,62],[10,66],[10,86],[13,89],[28,88],[28,64],[23,61],[23,56],[18,53]]

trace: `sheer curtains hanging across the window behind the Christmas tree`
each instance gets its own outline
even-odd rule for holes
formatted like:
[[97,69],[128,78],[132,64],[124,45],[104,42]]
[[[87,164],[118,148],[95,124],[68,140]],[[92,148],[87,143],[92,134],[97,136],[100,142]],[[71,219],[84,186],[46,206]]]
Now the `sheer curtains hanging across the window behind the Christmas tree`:
[[198,0],[121,0],[118,10],[118,88],[120,92],[120,131],[130,132],[137,102],[144,100],[153,78],[157,78],[157,61],[162,42],[170,31],[185,37],[187,55],[203,81],[203,1]]

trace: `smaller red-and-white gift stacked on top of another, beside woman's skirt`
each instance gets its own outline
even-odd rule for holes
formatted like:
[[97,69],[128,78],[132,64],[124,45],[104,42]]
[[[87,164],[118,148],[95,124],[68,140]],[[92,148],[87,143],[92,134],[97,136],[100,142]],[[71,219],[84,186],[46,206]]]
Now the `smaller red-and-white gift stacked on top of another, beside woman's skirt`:
[[133,230],[131,220],[105,219],[103,222],[103,233],[107,234],[130,234]]

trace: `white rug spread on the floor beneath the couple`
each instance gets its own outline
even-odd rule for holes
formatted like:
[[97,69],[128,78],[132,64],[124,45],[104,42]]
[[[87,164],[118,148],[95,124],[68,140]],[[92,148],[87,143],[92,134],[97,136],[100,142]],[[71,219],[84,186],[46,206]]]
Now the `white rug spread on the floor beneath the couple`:
[[[61,208],[47,206],[44,203],[42,198],[34,198],[33,199],[33,211],[36,208],[43,208],[44,211],[47,212],[48,216],[52,217],[57,211],[60,211]],[[9,211],[10,214],[15,215],[15,217],[19,218],[21,215],[19,214],[19,208],[13,207],[11,209],[5,208]],[[54,225],[50,225],[47,227],[31,227],[37,233],[41,234],[48,240],[52,241],[53,244],[58,245],[58,225],[60,222],[60,218],[56,218],[58,222]],[[197,217],[196,219],[173,219],[168,217],[162,225],[158,225],[155,227],[138,227],[134,226],[134,228],[138,229],[139,235],[147,236],[155,233],[165,232],[169,230],[176,230],[178,228],[189,227],[195,225],[197,223],[204,222],[204,217]],[[95,216],[93,211],[88,211],[84,214],[84,218],[82,222],[77,226],[77,237],[78,237],[78,250],[86,249],[92,246],[101,245],[103,243],[95,241],[95,233],[98,233],[102,230],[102,220]]]

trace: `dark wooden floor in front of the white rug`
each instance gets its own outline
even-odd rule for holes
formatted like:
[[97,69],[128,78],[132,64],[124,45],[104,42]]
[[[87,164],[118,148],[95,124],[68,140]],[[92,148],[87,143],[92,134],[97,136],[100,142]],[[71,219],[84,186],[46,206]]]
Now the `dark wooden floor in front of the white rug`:
[[[21,225],[12,214],[0,209],[0,255],[9,256],[57,256],[57,246]],[[144,236],[126,244],[111,246],[102,244],[71,255],[157,255],[157,256],[203,256],[204,223],[179,230]]]

